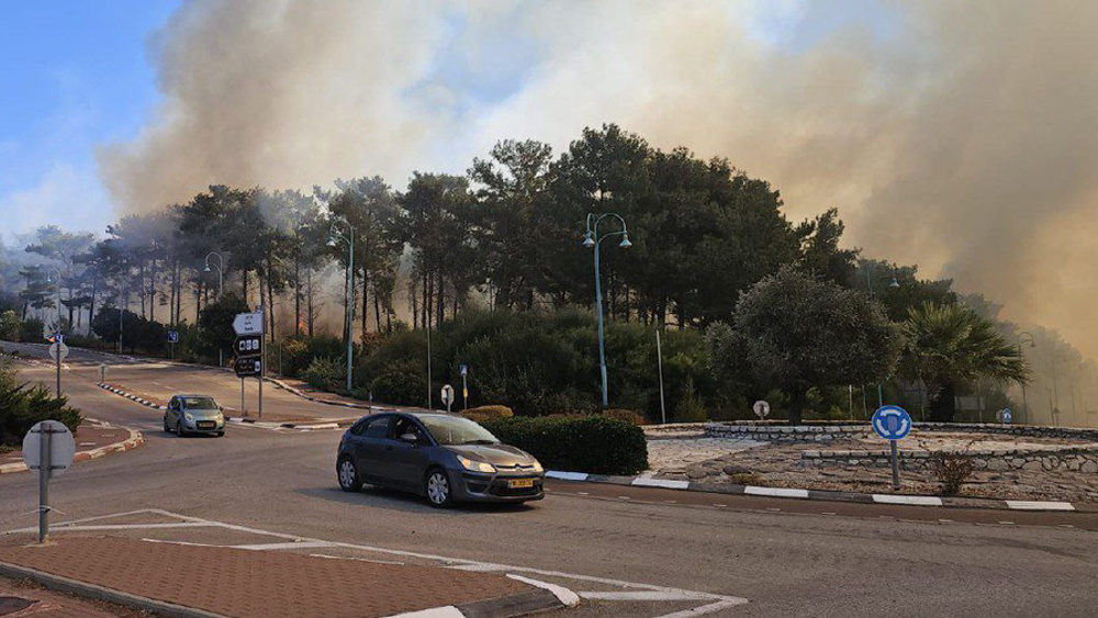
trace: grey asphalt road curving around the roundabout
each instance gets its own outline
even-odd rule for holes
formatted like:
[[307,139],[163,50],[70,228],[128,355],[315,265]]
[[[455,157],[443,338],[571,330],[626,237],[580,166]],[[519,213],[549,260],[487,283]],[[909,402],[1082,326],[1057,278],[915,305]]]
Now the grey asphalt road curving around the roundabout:
[[[75,352],[63,389],[87,416],[142,429],[146,445],[79,463],[54,481],[58,520],[155,508],[256,530],[237,528],[240,535],[354,543],[362,555],[516,565],[604,597],[559,616],[656,617],[705,605],[656,593],[630,597],[632,588],[621,582],[748,600],[708,616],[1098,614],[1091,514],[808,503],[568,482],[549,483],[547,498],[528,506],[436,510],[390,492],[340,492],[333,460],[339,430],[231,426],[222,439],[165,435],[158,411],[94,385],[103,361]],[[111,364],[111,382],[150,394],[222,397],[235,389],[239,396],[229,373]],[[53,384],[48,368],[22,366],[22,372]],[[321,406],[268,391],[272,411]],[[330,415],[309,406],[301,409]],[[29,474],[0,476],[0,529],[33,525],[35,505]],[[221,543],[228,532],[159,533]]]

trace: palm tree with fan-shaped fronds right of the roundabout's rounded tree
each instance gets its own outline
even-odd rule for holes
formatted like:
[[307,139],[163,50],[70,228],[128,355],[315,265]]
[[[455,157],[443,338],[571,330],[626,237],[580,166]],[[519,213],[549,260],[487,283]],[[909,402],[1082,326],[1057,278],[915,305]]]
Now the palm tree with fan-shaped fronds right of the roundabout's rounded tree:
[[907,341],[901,371],[926,384],[931,420],[953,420],[957,382],[1029,380],[1029,366],[1018,348],[965,305],[923,303],[908,311],[903,329]]

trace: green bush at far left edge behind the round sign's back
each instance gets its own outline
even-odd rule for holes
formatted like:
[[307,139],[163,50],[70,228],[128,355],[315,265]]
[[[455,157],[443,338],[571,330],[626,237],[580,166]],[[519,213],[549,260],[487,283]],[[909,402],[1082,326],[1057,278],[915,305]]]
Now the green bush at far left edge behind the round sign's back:
[[19,383],[11,362],[0,362],[0,445],[22,445],[23,436],[40,420],[59,420],[75,432],[82,419],[80,411],[68,406],[67,397],[55,397],[41,384]]

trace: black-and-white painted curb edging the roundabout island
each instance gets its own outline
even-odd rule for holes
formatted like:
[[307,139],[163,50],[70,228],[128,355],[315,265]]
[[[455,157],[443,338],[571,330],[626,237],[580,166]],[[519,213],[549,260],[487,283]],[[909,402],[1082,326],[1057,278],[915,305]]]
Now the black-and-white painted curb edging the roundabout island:
[[635,487],[660,487],[686,492],[705,492],[712,494],[753,495],[780,498],[814,499],[826,502],[855,502],[862,504],[896,504],[905,506],[937,506],[943,508],[987,508],[1001,510],[1057,510],[1086,512],[1088,507],[1077,508],[1069,502],[1015,501],[991,498],[960,498],[948,496],[926,496],[907,494],[863,494],[859,492],[832,492],[824,490],[798,490],[789,487],[760,487],[755,485],[703,484],[691,481],[673,481],[650,479],[647,476],[614,476],[608,474],[587,474],[586,472],[563,472],[546,470],[546,479],[558,481],[580,481],[585,483],[608,483],[612,485],[631,485]]

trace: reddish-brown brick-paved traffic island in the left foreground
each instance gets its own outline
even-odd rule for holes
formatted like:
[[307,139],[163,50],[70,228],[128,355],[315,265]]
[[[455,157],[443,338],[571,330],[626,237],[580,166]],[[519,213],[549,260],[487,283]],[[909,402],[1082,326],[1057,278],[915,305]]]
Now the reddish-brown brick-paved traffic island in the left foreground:
[[[45,547],[0,539],[0,575],[168,616],[519,616],[560,607],[503,575],[278,551],[64,536]],[[460,611],[460,614],[453,614]]]

